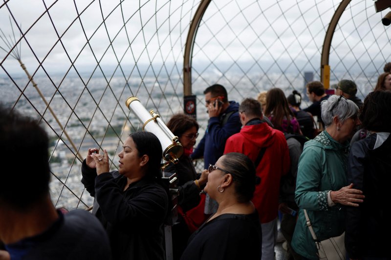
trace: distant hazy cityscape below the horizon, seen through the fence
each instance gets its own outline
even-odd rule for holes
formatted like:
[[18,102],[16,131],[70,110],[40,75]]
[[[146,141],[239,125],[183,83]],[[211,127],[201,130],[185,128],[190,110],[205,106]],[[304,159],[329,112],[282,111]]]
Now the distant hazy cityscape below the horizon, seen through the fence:
[[[256,98],[260,90],[268,90],[274,86],[282,88],[285,94],[289,95],[293,90],[290,85],[295,85],[297,90],[302,93],[303,98],[306,99],[305,80],[318,79],[314,79],[312,72],[304,73],[304,77],[305,79],[297,77],[297,75],[281,77],[281,74],[272,74],[258,83],[259,86],[262,86],[261,88],[251,86],[251,82],[247,84],[241,82],[230,90],[228,96],[230,100],[240,102],[245,97]],[[366,76],[358,75],[355,77],[358,85],[357,96],[363,100],[364,96],[375,86],[377,78],[371,77],[371,80],[368,80]],[[218,78],[214,79],[212,75],[206,79],[208,82],[216,82]],[[58,84],[61,78],[52,77],[49,80],[46,77],[36,77],[35,80],[41,92],[44,93],[45,99],[50,100],[56,91],[53,83]],[[165,85],[167,80],[159,79],[159,84]],[[275,80],[275,85],[270,80]],[[90,206],[92,198],[87,194],[87,191],[83,192],[81,163],[76,158],[76,151],[64,134],[61,137],[62,140],[59,140],[57,135],[61,135],[62,129],[51,113],[48,110],[45,111],[45,103],[36,89],[31,84],[27,86],[27,79],[24,77],[14,79],[14,81],[15,83],[8,78],[0,78],[2,102],[7,106],[15,105],[15,108],[26,116],[40,118],[39,114],[44,113],[43,118],[47,121],[47,124],[43,121],[43,125],[45,125],[51,140],[50,165],[53,177],[50,187],[52,200],[57,206],[69,208]],[[153,77],[145,78],[143,84],[156,84],[155,81],[156,79]],[[221,81],[219,83],[229,89],[230,82]],[[335,82],[332,83],[336,83],[338,80],[333,81]],[[81,157],[86,157],[89,147],[101,146],[109,152],[112,160],[111,168],[116,168],[117,154],[122,149],[121,140],[124,140],[130,131],[136,131],[142,127],[137,117],[125,106],[125,100],[132,95],[136,95],[143,104],[148,100],[146,108],[158,111],[164,121],[168,120],[172,114],[182,111],[183,89],[166,88],[164,92],[159,92],[160,88],[155,88],[155,91],[149,94],[145,88],[139,88],[139,85],[140,80],[124,82],[123,77],[112,78],[109,82],[110,88],[103,77],[91,78],[87,88],[77,77],[67,77],[61,83],[59,92],[54,95],[50,107],[61,124],[66,125],[65,131],[79,149]],[[193,87],[193,93],[197,95],[198,101],[196,104],[198,106],[197,120],[201,126],[197,141],[202,138],[208,120],[203,104],[202,91],[204,88],[204,83],[202,85],[195,83]],[[22,91],[23,95],[21,95]],[[97,106],[95,102],[100,103]],[[304,102],[302,107],[306,107],[308,104],[308,102]],[[154,105],[158,105],[158,107]]]

